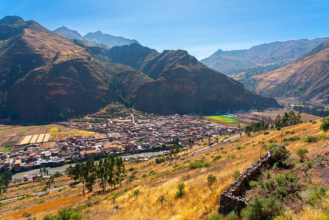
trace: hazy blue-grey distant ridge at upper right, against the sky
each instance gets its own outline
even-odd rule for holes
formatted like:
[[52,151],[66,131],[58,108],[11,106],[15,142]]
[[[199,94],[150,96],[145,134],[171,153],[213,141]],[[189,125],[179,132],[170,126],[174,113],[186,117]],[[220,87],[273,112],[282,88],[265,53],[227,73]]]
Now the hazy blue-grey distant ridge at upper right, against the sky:
[[201,62],[217,71],[231,68],[266,66],[268,64],[281,65],[303,56],[327,39],[276,41],[243,50],[223,51],[219,49],[211,56],[201,60]]

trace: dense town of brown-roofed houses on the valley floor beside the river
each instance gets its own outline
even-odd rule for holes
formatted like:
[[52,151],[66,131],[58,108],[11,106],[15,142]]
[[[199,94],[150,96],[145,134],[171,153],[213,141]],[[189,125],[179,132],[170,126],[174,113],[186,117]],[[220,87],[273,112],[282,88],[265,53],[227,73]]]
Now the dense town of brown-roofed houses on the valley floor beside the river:
[[[117,155],[142,153],[147,151],[167,150],[176,139],[180,142],[194,139],[194,144],[202,139],[220,134],[231,134],[241,129],[222,127],[196,115],[140,114],[133,111],[125,118],[110,119],[102,123],[76,122],[75,127],[103,133],[96,136],[76,136],[57,140],[54,147],[40,149],[38,144],[27,145],[27,150],[14,153],[0,152],[3,163],[0,170],[14,172],[36,169],[39,167],[62,166],[78,160],[97,158],[110,153]],[[184,146],[183,146],[184,147]],[[148,158],[124,158],[125,161],[140,161]]]

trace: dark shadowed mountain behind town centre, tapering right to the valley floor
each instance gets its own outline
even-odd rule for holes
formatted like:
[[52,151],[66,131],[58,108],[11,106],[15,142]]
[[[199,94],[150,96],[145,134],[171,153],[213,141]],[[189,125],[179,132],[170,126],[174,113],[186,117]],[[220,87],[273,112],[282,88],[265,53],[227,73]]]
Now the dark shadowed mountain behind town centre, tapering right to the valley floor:
[[156,79],[139,86],[131,97],[140,110],[171,113],[250,110],[257,103],[278,106],[272,98],[256,95],[226,75],[200,63],[185,50],[154,49],[138,44],[113,47],[105,54]]

